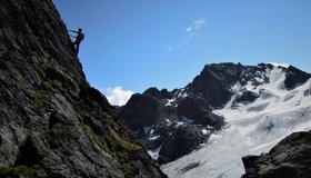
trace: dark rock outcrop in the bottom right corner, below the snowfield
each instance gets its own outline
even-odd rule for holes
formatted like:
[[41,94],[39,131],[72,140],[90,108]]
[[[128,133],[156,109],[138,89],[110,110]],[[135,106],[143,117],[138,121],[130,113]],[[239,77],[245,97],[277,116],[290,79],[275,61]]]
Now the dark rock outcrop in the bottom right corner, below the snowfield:
[[242,158],[243,178],[309,178],[311,177],[311,131],[294,132],[268,154]]

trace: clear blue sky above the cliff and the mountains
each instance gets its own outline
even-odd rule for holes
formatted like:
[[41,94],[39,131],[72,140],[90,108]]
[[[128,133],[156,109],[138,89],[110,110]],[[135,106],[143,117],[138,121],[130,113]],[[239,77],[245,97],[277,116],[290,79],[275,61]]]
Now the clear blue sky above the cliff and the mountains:
[[[184,87],[207,63],[311,71],[310,0],[53,0],[86,34],[79,58],[106,91]],[[120,88],[119,88],[120,89]]]

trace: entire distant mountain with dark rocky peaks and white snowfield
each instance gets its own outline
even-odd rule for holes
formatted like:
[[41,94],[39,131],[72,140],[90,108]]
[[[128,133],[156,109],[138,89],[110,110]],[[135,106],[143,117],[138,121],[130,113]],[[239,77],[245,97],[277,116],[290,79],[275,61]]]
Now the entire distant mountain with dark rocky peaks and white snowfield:
[[292,66],[212,63],[184,88],[133,95],[120,113],[169,177],[234,178],[241,157],[311,127],[310,78]]

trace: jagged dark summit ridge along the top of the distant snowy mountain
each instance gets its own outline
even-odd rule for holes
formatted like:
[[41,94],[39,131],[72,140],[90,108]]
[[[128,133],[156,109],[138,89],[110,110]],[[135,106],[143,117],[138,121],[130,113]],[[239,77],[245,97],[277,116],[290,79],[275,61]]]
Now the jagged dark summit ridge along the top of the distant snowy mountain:
[[213,107],[225,103],[230,97],[230,88],[239,81],[242,86],[252,82],[254,86],[269,82],[267,71],[273,68],[281,69],[285,76],[285,88],[292,89],[299,83],[304,83],[310,73],[301,71],[292,66],[284,68],[271,63],[259,63],[258,66],[242,66],[241,63],[212,63],[207,65],[199,76],[185,88],[190,91],[202,93],[207,101]]

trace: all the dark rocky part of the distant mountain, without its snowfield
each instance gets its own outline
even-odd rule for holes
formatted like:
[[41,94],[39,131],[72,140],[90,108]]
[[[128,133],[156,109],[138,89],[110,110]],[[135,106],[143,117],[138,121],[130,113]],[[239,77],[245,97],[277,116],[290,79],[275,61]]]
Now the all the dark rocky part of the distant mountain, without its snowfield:
[[[227,105],[234,109],[259,98],[269,98],[268,90],[254,90],[274,82],[280,77],[273,73],[277,70],[284,73],[285,90],[311,77],[292,66],[212,63],[184,88],[172,91],[149,88],[141,95],[133,95],[120,109],[120,115],[149,154],[165,164],[191,152],[224,126],[224,118],[214,115],[214,109]],[[234,86],[241,88],[239,93]],[[250,108],[250,111],[255,109]]]

